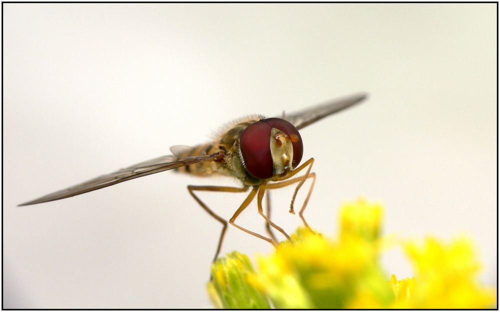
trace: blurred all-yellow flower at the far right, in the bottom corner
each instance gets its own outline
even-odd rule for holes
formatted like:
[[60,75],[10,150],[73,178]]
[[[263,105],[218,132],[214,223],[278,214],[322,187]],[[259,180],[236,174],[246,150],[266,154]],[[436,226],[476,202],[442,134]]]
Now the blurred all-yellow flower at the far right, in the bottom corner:
[[[414,270],[406,304],[411,308],[491,308],[496,290],[477,281],[480,269],[472,243],[460,237],[445,244],[428,237],[423,244],[404,244]],[[400,282],[399,282],[400,283]],[[402,302],[398,302],[400,304]]]

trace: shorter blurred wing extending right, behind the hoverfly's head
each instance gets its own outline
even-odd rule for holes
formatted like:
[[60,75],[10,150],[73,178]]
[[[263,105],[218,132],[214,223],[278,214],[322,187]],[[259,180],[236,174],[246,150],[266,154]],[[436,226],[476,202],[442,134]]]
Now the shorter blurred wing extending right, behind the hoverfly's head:
[[312,106],[294,113],[284,116],[276,116],[291,122],[297,129],[301,129],[319,119],[322,119],[332,113],[350,107],[354,104],[361,102],[367,97],[366,93],[357,93],[350,96],[335,98],[316,106]]

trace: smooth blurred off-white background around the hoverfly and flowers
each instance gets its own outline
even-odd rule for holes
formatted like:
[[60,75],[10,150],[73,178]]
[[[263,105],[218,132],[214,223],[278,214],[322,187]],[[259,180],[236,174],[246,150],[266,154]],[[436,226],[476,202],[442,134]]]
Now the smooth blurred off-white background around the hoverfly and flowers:
[[[308,223],[336,235],[339,204],[362,195],[385,205],[384,233],[469,235],[481,281],[496,283],[494,3],[2,7],[4,308],[211,307],[221,227],[186,185],[237,181],[162,172],[16,205],[209,140],[233,118],[358,91],[362,105],[301,131],[317,173]],[[271,195],[288,232],[301,224],[292,193]],[[225,218],[245,197],[199,195]],[[264,233],[255,203],[239,224]],[[272,246],[229,226],[232,250]],[[382,260],[412,275],[401,250]]]

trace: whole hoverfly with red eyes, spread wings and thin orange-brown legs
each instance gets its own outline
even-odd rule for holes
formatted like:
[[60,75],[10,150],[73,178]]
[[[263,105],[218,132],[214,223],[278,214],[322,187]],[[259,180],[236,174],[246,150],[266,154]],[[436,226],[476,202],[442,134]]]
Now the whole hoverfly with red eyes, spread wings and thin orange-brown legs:
[[[303,144],[298,130],[332,113],[359,103],[364,98],[366,98],[366,95],[360,93],[333,99],[295,113],[285,114],[283,112],[280,117],[266,118],[262,115],[250,115],[235,119],[226,125],[212,142],[195,147],[175,145],[170,147],[171,155],[157,157],[100,175],[19,205],[30,205],[71,197],[170,169],[197,176],[229,175],[240,180],[243,185],[241,187],[187,186],[189,193],[196,202],[222,224],[222,231],[213,260],[217,258],[220,252],[227,229],[227,221],[214,213],[194,194],[194,191],[246,192],[251,188],[249,194],[229,219],[229,223],[275,245],[276,239],[269,225],[281,232],[286,238],[289,239],[290,237],[281,227],[270,220],[269,211],[267,215],[263,213],[262,199],[266,189],[280,188],[298,182],[289,209],[290,213],[295,213],[293,207],[295,196],[304,181],[307,178],[312,178],[309,191],[298,213],[304,225],[309,227],[303,217],[303,212],[311,195],[316,175],[314,172],[310,172],[314,158],[310,158],[299,165],[302,159]],[[304,169],[305,174],[296,176]],[[238,215],[248,206],[255,195],[257,196],[258,213],[266,221],[266,229],[271,236],[270,238],[234,223]],[[267,206],[269,207],[268,204]]]

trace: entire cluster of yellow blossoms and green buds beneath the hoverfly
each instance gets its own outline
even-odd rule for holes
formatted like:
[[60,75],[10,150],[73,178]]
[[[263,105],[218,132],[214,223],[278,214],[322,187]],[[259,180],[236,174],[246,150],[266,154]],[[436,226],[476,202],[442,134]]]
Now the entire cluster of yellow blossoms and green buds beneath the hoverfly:
[[399,242],[415,276],[397,280],[379,263],[383,248],[396,242],[381,235],[382,205],[360,198],[342,204],[339,216],[337,240],[299,228],[271,255],[257,257],[256,272],[239,253],[217,260],[208,285],[214,304],[262,307],[266,296],[275,308],[495,307],[496,290],[478,283],[468,240]]

